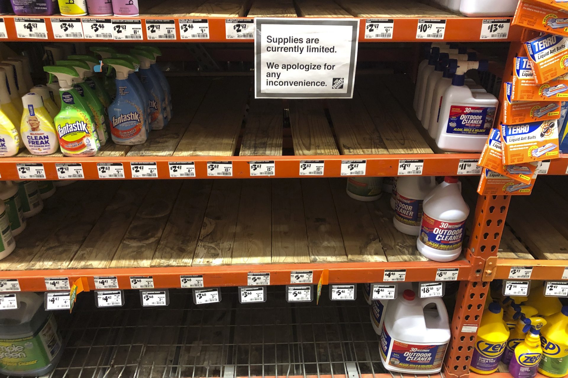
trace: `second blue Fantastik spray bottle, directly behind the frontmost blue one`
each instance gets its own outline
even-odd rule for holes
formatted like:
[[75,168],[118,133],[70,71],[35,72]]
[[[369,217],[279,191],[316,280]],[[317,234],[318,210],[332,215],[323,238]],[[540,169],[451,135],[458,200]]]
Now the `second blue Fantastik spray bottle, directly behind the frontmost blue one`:
[[131,49],[130,53],[140,60],[138,74],[140,82],[150,97],[150,129],[161,130],[168,123],[166,114],[166,99],[160,80],[150,68],[154,62],[152,53],[140,49]]

